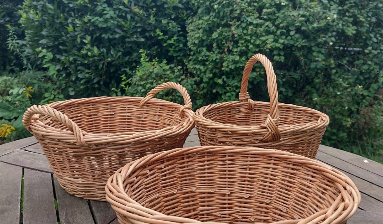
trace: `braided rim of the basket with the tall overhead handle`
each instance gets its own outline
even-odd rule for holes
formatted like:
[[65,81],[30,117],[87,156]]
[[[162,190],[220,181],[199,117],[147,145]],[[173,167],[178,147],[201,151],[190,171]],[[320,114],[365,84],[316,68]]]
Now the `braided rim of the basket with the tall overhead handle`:
[[[263,101],[254,101],[254,103],[255,103],[255,105],[264,104],[262,106],[270,105],[270,102],[263,102]],[[194,112],[193,119],[197,122],[198,121],[208,122],[209,126],[211,126],[212,128],[219,128],[219,129],[231,128],[231,129],[235,129],[236,131],[252,131],[252,130],[256,131],[256,130],[259,130],[259,128],[265,127],[264,124],[259,125],[259,126],[231,125],[231,124],[227,124],[227,123],[216,122],[216,121],[213,121],[213,120],[206,118],[204,116],[204,112],[208,112],[210,109],[213,109],[213,108],[214,109],[223,108],[223,107],[226,107],[228,104],[230,104],[230,105],[232,105],[232,104],[243,104],[244,106],[247,106],[246,102],[241,102],[241,101],[229,101],[229,102],[220,102],[220,103],[216,103],[216,104],[209,104],[209,105],[206,105],[206,106],[203,106],[203,107],[197,109]],[[319,127],[321,124],[324,123],[327,126],[330,122],[330,118],[327,114],[324,114],[323,112],[320,112],[319,110],[315,110],[315,109],[312,109],[309,107],[298,106],[295,104],[285,104],[285,103],[281,103],[281,102],[278,102],[278,107],[289,107],[289,108],[294,108],[294,109],[304,109],[304,110],[309,110],[312,114],[318,115],[317,122],[296,123],[294,125],[279,125],[278,129],[280,130],[281,133],[285,133],[285,132],[291,133],[291,132],[299,131],[302,128],[307,128],[308,125],[310,125],[310,130],[316,130],[317,127]],[[320,127],[318,129],[320,129]]]

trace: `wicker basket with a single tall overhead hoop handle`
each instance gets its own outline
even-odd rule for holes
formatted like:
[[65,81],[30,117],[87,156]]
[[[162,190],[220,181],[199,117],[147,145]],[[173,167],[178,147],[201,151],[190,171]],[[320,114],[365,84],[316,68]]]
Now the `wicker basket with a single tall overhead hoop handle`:
[[[253,65],[266,70],[270,102],[250,99],[247,82]],[[239,101],[201,107],[193,116],[201,145],[236,145],[280,149],[315,158],[329,117],[318,110],[278,103],[277,78],[265,55],[246,63]]]

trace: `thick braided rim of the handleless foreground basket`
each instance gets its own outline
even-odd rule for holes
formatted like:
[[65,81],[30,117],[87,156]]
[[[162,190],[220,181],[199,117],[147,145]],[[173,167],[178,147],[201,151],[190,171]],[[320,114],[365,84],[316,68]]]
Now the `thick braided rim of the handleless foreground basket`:
[[[225,148],[228,148],[228,149],[224,150]],[[324,164],[323,162],[316,161],[314,159],[310,159],[310,158],[305,157],[305,156],[289,153],[289,152],[278,150],[278,149],[264,149],[264,148],[257,148],[257,147],[242,147],[242,146],[194,146],[194,147],[190,147],[190,148],[176,148],[176,149],[171,149],[169,151],[162,151],[159,153],[144,156],[141,159],[137,159],[135,161],[129,162],[125,166],[119,168],[115,172],[115,174],[113,174],[109,177],[109,179],[105,185],[106,200],[109,203],[119,203],[119,204],[121,203],[121,199],[119,199],[119,201],[115,201],[115,200],[113,200],[113,198],[111,198],[111,197],[115,197],[115,196],[113,195],[113,192],[111,192],[110,188],[109,188],[109,187],[113,187],[112,182],[116,183],[116,176],[117,175],[124,176],[123,179],[126,180],[128,175],[131,174],[133,171],[135,171],[134,170],[135,167],[139,168],[141,166],[145,166],[145,164],[147,164],[148,162],[156,161],[157,158],[166,159],[166,158],[169,158],[172,156],[177,156],[177,155],[184,155],[184,154],[186,154],[186,155],[190,154],[191,155],[193,153],[205,153],[205,152],[206,153],[214,153],[215,151],[220,152],[220,153],[267,154],[270,157],[278,156],[278,157],[286,159],[286,160],[306,164],[306,166],[317,167],[317,168],[319,168],[318,170],[321,170],[322,172],[327,171],[326,172],[328,174],[327,176],[332,175],[332,176],[334,176],[334,178],[332,178],[332,179],[341,180],[342,181],[341,185],[344,188],[347,188],[347,190],[350,190],[352,192],[353,198],[349,197],[349,200],[350,200],[349,206],[352,206],[352,203],[353,203],[352,211],[350,211],[350,213],[347,215],[347,217],[344,218],[344,220],[349,219],[355,213],[355,211],[357,210],[357,208],[360,204],[361,195],[360,195],[360,192],[359,192],[358,188],[356,187],[355,183],[349,177],[347,177],[347,175],[345,175],[344,173],[340,172],[337,169],[332,168],[331,166],[328,166],[327,164]],[[121,174],[121,171],[123,169],[124,169],[124,172],[123,172],[123,174]],[[134,201],[132,198],[130,198],[128,196],[128,194],[126,194],[126,192],[124,191],[123,188],[116,186],[115,183],[113,183],[113,185],[115,187],[119,188],[118,194],[119,195],[122,194],[124,196],[123,198],[127,199],[126,203],[128,203],[128,204],[123,205],[123,206],[133,205],[136,207],[136,209],[141,208],[142,209],[141,211],[148,213],[148,215],[149,215],[148,217],[150,217],[152,215],[153,216],[159,216],[159,212],[140,205],[139,203]],[[341,194],[342,194],[342,192],[339,193],[339,195],[341,195]],[[314,213],[311,216],[314,216],[315,214],[321,214],[322,215],[322,214],[324,214],[324,211],[327,211],[330,208],[331,207],[324,209],[324,210],[321,210],[321,211],[318,211],[317,213]],[[124,212],[124,210],[121,208],[118,208],[118,210]],[[182,221],[182,223],[185,223],[185,224],[189,223],[187,221],[190,221],[190,223],[196,222],[194,219],[182,218],[182,217],[178,217],[178,216],[169,216],[169,215],[165,215],[162,213],[160,213],[160,214],[162,217],[171,217],[173,219],[173,221]],[[309,216],[309,217],[311,217],[311,216]],[[339,216],[340,216],[340,214],[339,214]],[[160,218],[160,216],[156,217],[156,218]],[[277,224],[279,222],[285,223],[286,221],[297,221],[298,222],[299,220],[290,219],[290,220],[278,221],[278,222],[273,222],[273,223],[275,223],[275,224]],[[222,222],[203,222],[203,223],[224,224]],[[294,222],[294,223],[296,223],[296,222]]]

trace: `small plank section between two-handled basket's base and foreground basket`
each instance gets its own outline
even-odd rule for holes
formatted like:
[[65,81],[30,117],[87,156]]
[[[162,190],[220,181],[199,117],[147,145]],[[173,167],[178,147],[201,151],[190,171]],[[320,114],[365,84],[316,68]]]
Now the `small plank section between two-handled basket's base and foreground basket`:
[[108,224],[116,218],[115,210],[107,201],[89,200],[97,224]]

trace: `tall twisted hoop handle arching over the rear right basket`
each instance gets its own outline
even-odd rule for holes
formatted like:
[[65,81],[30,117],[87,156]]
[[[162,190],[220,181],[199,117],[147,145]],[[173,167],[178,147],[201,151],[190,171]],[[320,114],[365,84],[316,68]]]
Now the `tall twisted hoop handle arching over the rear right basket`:
[[260,62],[266,70],[267,77],[267,90],[270,97],[270,112],[267,115],[265,122],[268,133],[260,140],[262,141],[277,141],[281,138],[281,133],[278,130],[279,117],[278,117],[278,90],[277,90],[277,76],[274,73],[273,65],[270,60],[263,54],[253,55],[247,61],[243,70],[241,91],[239,93],[239,100],[248,103],[248,109],[254,109],[254,101],[250,99],[249,92],[247,92],[247,83],[249,82],[250,72],[255,63]]

